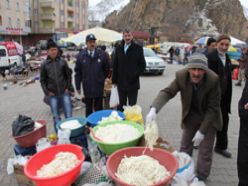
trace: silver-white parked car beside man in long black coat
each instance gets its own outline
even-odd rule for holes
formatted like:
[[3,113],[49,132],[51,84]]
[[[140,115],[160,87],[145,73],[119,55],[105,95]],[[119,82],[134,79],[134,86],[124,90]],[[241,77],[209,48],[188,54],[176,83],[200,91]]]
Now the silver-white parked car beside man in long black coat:
[[165,62],[152,49],[143,48],[146,60],[146,69],[144,73],[162,75],[165,70]]

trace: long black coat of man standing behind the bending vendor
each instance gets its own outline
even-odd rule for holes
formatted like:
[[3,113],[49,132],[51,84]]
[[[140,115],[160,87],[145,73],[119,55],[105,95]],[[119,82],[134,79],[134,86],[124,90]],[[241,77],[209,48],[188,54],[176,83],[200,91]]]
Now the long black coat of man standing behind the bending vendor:
[[[221,105],[227,109],[227,111],[231,112],[231,101],[232,101],[232,64],[229,56],[226,54],[226,64],[223,65],[217,49],[212,51],[207,55],[208,58],[208,67],[213,70],[218,76],[220,80],[221,86]],[[224,92],[223,84],[224,77],[226,77],[227,89]]]

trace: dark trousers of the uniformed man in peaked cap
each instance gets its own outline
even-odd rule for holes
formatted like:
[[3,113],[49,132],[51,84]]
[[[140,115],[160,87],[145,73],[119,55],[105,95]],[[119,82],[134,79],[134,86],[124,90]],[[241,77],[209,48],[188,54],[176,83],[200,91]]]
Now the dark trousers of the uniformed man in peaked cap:
[[86,105],[86,117],[89,116],[93,111],[102,110],[103,108],[103,98],[85,98]]

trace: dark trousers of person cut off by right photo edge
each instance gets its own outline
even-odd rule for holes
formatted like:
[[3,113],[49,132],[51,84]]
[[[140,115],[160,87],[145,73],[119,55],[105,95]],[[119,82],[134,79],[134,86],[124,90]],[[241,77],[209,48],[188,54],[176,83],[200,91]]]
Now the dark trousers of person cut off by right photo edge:
[[248,120],[240,118],[238,142],[238,177],[239,186],[248,185]]

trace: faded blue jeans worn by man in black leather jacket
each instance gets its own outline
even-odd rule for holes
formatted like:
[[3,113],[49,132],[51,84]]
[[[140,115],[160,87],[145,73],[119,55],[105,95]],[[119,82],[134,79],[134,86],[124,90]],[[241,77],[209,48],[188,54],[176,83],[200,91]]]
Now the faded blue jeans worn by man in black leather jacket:
[[72,103],[71,96],[64,93],[60,96],[50,96],[49,105],[53,115],[54,129],[57,132],[57,124],[61,120],[60,109],[63,109],[65,118],[72,117]]

